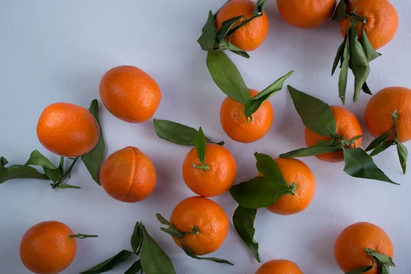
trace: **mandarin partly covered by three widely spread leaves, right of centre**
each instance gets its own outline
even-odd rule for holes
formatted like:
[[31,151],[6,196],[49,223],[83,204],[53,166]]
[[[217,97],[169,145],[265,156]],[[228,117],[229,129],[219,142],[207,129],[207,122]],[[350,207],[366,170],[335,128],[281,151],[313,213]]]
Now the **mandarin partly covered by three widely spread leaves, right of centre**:
[[[334,118],[336,119],[338,135],[345,136],[347,140],[362,135],[361,125],[358,122],[356,116],[352,112],[337,105],[332,105],[331,110],[334,114]],[[311,129],[306,127],[307,147],[312,147],[313,145],[316,145],[317,140],[328,141],[331,139],[331,137],[324,137],[319,134],[316,134],[315,132],[312,132]],[[356,147],[361,146],[361,141],[362,138],[354,141]],[[353,147],[353,145],[351,145],[351,147]],[[337,151],[316,155],[315,157],[324,162],[342,162],[344,160],[344,153],[343,151]]]

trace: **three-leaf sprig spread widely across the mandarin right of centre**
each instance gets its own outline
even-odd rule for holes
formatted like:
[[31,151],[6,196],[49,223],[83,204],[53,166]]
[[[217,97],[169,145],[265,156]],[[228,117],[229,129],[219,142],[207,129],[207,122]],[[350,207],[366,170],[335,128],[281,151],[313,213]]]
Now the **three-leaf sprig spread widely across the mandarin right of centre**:
[[[303,124],[313,132],[331,138],[329,142],[318,142],[312,147],[297,149],[279,155],[282,158],[307,157],[336,151],[344,151],[344,171],[352,177],[375,179],[391,184],[397,184],[388,178],[385,173],[377,167],[373,158],[359,147],[350,148],[354,141],[361,138],[356,136],[351,140],[339,136],[336,132],[336,120],[332,109],[327,103],[312,97],[304,92],[288,86],[295,109],[297,110]],[[355,144],[354,144],[355,145]]]

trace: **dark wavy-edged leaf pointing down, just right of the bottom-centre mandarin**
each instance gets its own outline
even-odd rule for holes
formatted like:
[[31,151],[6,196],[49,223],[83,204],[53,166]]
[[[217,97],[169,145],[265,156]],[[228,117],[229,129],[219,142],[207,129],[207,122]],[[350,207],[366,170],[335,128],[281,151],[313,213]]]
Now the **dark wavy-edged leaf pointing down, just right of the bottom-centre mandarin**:
[[233,224],[236,228],[238,235],[245,242],[245,245],[249,247],[251,253],[257,262],[260,262],[260,256],[258,255],[258,242],[253,237],[256,229],[254,228],[254,221],[256,220],[256,209],[243,208],[238,206],[233,215]]

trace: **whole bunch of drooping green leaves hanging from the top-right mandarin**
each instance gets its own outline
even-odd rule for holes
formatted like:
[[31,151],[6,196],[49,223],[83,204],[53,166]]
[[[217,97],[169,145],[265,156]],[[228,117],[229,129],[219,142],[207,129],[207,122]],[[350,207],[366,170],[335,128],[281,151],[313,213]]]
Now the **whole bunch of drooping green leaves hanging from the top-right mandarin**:
[[[340,1],[340,5],[338,5],[336,14],[334,14],[334,18],[340,18],[340,13],[344,9],[346,9],[345,0],[342,0]],[[334,59],[334,64],[332,66],[332,75],[334,75],[338,63],[340,62],[341,70],[338,79],[338,94],[341,101],[343,101],[343,104],[345,104],[348,69],[351,69],[354,75],[355,88],[353,101],[355,103],[360,97],[361,90],[369,95],[372,95],[369,86],[366,84],[366,79],[370,73],[369,62],[381,55],[377,53],[373,45],[371,45],[369,38],[366,36],[364,30],[366,18],[360,16],[360,14],[356,14],[354,10],[353,12],[351,12],[350,20],[348,21],[348,23],[350,24],[350,26],[348,28],[347,34],[345,34],[343,43],[338,48],[336,58]],[[361,32],[361,42],[358,40],[356,29],[356,25],[358,23],[364,24],[362,26]]]

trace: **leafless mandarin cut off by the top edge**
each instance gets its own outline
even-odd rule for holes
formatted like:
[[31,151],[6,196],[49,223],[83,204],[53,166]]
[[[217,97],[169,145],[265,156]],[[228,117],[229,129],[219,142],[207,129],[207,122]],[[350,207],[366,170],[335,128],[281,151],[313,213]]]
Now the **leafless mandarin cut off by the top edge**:
[[331,18],[335,0],[277,0],[277,8],[284,20],[293,27],[313,29]]

